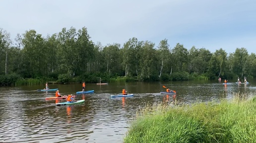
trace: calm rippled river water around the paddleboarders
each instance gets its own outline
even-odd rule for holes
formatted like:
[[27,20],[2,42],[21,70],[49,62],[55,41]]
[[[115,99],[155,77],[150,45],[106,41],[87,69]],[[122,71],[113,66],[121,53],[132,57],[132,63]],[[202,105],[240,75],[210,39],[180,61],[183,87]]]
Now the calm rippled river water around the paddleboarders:
[[[177,91],[185,103],[231,99],[234,92],[256,95],[256,80],[249,84],[223,85],[218,81],[128,82],[109,85],[86,84],[94,94],[76,95],[85,103],[56,106],[65,100],[45,100],[54,91],[36,91],[42,86],[0,87],[0,142],[4,143],[122,143],[129,121],[147,103],[173,101],[161,95],[162,86]],[[82,84],[50,84],[62,95],[75,94]],[[110,98],[126,88],[134,97]]]

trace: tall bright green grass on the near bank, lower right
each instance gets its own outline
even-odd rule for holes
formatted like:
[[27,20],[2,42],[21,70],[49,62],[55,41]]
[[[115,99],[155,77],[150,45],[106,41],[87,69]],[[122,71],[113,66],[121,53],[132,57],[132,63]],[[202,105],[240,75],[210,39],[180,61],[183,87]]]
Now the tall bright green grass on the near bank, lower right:
[[256,143],[256,97],[192,105],[147,105],[125,143]]

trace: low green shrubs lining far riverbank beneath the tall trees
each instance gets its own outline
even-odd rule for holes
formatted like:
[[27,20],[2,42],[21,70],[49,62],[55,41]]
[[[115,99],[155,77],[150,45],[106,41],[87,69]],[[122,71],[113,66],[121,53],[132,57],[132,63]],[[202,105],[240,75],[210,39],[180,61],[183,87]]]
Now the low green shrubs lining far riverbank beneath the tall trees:
[[[206,75],[198,75],[188,72],[174,72],[172,75],[163,74],[161,78],[152,75],[146,80],[142,80],[138,76],[118,76],[101,73],[84,73],[79,76],[71,76],[69,74],[52,74],[49,77],[23,78],[19,74],[0,75],[0,85],[40,85],[48,83],[99,83],[101,82],[133,82],[133,81],[177,81],[177,80],[208,80]],[[217,79],[217,77],[216,77]]]

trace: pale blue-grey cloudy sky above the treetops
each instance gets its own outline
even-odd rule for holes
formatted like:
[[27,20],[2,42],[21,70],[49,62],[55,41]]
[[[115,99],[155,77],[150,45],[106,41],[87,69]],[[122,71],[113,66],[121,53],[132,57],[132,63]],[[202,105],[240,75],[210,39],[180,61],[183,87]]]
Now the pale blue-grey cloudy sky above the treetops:
[[13,41],[32,29],[46,37],[86,27],[103,46],[132,37],[158,46],[166,38],[170,48],[256,53],[256,0],[1,0],[0,13]]

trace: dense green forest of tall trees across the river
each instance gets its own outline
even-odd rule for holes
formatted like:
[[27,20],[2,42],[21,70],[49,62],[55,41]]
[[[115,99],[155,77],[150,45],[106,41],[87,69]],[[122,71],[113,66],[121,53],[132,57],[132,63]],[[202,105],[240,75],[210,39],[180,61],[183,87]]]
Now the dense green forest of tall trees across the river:
[[105,82],[232,79],[256,77],[256,55],[246,48],[234,53],[220,48],[211,53],[205,48],[177,43],[171,48],[167,39],[158,45],[151,41],[128,39],[123,45],[93,42],[87,29],[63,28],[43,37],[35,30],[17,34],[15,40],[0,29],[0,85],[18,81]]

